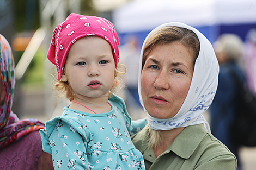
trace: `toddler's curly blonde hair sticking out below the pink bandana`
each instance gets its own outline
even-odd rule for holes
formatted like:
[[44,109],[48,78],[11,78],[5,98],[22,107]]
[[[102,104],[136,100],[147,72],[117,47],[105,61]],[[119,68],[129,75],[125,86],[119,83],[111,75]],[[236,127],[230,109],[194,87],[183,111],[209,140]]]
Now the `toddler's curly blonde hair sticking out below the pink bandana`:
[[[65,68],[63,71],[63,74],[65,73]],[[125,65],[121,64],[120,67],[115,68],[115,78],[113,86],[111,87],[109,91],[109,96],[111,96],[111,93],[117,93],[123,86],[123,81],[120,78],[121,75],[124,75],[126,73],[126,67]],[[58,80],[57,78],[54,78],[54,89],[58,91],[58,97],[66,97],[70,101],[74,100],[74,92],[72,90],[72,87],[69,84],[69,80],[62,81]]]

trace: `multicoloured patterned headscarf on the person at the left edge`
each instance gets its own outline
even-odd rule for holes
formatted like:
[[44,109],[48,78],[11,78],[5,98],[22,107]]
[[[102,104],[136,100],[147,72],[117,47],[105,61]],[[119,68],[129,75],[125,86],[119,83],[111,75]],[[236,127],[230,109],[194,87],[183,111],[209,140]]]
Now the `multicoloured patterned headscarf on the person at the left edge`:
[[[8,41],[0,34],[0,64],[1,82],[3,85],[4,101],[0,106],[0,148],[15,142],[34,130],[45,128],[44,123],[38,119],[29,118],[19,120],[16,114],[11,111],[13,105],[15,75],[14,59]],[[2,92],[0,92],[2,94]]]

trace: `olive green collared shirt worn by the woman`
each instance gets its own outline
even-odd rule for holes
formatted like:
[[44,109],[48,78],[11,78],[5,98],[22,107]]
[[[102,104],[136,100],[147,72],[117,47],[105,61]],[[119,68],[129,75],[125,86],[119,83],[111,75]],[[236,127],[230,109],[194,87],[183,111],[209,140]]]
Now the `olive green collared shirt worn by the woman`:
[[148,129],[133,135],[132,142],[142,152],[147,170],[235,170],[237,165],[235,156],[203,124],[186,127],[157,158],[148,147]]

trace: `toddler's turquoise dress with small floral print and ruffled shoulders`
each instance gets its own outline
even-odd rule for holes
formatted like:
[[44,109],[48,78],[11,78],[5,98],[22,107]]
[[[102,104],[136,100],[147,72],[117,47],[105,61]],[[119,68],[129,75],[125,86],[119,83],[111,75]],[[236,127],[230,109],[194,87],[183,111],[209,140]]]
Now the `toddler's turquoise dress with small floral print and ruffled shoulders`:
[[60,117],[41,129],[43,150],[52,155],[55,169],[145,169],[141,152],[130,135],[143,129],[147,119],[131,121],[123,99],[109,98],[112,110],[88,114],[63,109]]

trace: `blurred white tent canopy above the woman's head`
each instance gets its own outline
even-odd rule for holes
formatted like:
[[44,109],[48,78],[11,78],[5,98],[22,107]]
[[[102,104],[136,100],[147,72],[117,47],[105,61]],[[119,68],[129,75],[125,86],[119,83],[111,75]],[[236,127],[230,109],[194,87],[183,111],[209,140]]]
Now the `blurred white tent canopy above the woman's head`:
[[256,23],[255,0],[134,0],[113,12],[119,33],[151,30],[166,22],[191,26]]

